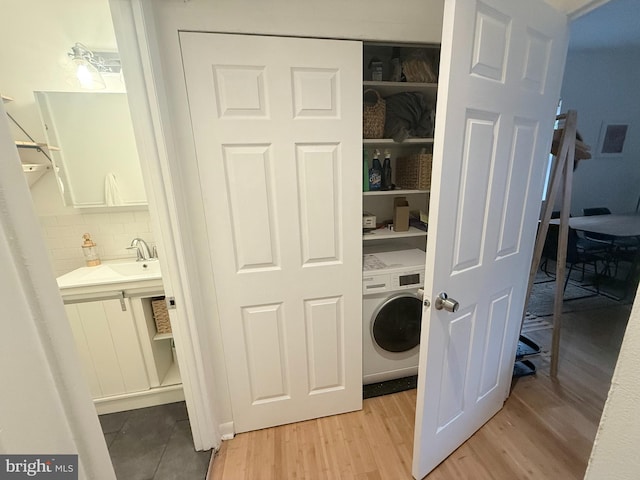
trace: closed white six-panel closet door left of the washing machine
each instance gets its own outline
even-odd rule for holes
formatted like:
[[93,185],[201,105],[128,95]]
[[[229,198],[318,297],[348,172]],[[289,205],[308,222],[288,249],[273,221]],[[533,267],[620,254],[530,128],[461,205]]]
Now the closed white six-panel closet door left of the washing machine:
[[235,430],[357,410],[361,44],[180,44]]

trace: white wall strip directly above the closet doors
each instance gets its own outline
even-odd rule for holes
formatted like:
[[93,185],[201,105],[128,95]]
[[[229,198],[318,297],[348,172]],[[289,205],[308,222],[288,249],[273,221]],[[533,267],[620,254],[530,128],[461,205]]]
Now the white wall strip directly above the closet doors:
[[[443,0],[153,2],[161,29],[440,43]],[[187,27],[188,25],[188,27]],[[167,31],[164,31],[164,36]],[[175,32],[173,40],[177,42]]]

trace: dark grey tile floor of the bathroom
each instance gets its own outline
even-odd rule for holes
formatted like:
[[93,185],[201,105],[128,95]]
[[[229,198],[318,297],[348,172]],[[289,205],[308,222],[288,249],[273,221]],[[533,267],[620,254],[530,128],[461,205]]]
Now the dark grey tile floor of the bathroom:
[[184,402],[100,415],[118,480],[204,480],[211,452],[193,448]]

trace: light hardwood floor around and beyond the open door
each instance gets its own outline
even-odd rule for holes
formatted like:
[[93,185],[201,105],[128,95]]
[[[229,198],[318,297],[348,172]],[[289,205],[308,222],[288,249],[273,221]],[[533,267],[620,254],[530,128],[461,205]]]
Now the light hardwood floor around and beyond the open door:
[[[537,375],[513,382],[505,407],[426,478],[579,479],[584,475],[630,305],[568,313],[557,379],[551,330],[529,333]],[[359,412],[237,435],[223,442],[211,480],[411,477],[416,391],[364,401]]]

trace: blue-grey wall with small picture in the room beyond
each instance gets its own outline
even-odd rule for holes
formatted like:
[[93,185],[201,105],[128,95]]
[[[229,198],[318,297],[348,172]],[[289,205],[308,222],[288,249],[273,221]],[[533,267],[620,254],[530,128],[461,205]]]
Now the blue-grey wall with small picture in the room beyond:
[[[578,131],[592,159],[573,177],[571,213],[606,206],[613,213],[635,210],[640,196],[640,48],[569,51],[562,85],[562,110],[578,112]],[[623,155],[598,156],[604,121],[631,122]]]

